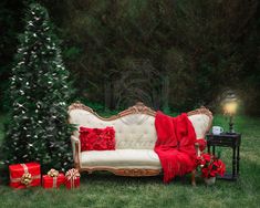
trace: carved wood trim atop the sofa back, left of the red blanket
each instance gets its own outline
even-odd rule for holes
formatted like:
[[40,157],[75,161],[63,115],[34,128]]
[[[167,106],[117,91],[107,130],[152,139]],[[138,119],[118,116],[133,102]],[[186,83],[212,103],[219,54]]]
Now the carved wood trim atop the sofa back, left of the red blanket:
[[155,111],[153,111],[150,107],[145,106],[144,103],[142,103],[142,102],[137,102],[134,106],[128,107],[127,110],[125,110],[123,112],[119,112],[117,115],[112,115],[111,117],[102,117],[96,112],[94,112],[91,107],[87,107],[80,102],[73,103],[69,106],[69,114],[73,110],[87,111],[102,121],[114,121],[114,119],[117,119],[119,117],[131,115],[131,114],[146,114],[146,115],[150,115],[150,116],[155,116],[155,114],[156,114]]

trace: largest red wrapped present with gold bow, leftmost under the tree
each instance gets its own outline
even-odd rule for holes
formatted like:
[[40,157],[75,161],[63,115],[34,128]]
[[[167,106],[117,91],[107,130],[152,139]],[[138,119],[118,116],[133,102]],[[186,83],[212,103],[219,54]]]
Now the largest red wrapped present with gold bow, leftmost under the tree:
[[10,186],[13,188],[41,185],[41,166],[38,163],[10,165],[9,173]]

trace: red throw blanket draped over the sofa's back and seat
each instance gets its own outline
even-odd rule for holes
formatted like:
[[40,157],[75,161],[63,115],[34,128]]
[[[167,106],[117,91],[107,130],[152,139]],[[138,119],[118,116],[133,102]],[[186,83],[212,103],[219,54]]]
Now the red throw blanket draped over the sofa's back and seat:
[[164,181],[183,176],[196,167],[196,133],[187,114],[170,117],[157,112],[155,116],[157,153],[164,170]]

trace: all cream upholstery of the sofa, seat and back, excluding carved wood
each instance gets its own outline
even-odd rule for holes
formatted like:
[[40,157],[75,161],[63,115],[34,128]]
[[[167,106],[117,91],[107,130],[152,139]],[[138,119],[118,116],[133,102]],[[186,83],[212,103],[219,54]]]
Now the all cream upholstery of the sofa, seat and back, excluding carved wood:
[[[189,116],[197,138],[204,138],[210,125],[210,118],[205,114]],[[145,114],[126,115],[114,121],[103,121],[96,115],[84,111],[70,112],[70,123],[85,127],[104,128],[113,126],[115,129],[116,150],[80,152],[80,166],[112,167],[112,168],[149,168],[160,169],[157,154],[153,150],[157,139],[154,126],[155,117]],[[72,145],[79,139],[79,132],[74,132]],[[80,141],[79,141],[80,143]],[[75,152],[73,147],[73,153]],[[74,154],[73,154],[74,155]]]

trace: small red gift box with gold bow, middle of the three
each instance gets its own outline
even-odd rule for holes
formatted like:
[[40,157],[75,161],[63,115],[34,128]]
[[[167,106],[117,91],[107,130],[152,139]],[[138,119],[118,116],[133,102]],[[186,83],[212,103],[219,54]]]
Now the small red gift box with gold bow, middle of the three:
[[55,169],[50,169],[46,175],[42,176],[43,188],[60,188],[64,181],[64,174],[60,174]]

